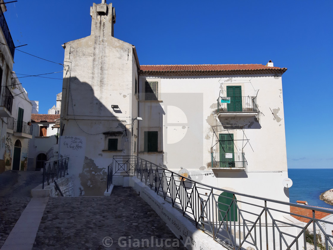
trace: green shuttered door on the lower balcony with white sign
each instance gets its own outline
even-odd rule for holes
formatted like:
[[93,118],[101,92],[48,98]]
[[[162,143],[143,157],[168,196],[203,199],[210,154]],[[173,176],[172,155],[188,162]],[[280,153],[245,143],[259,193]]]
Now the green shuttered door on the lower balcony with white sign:
[[[220,167],[232,168],[234,167],[234,151],[233,151],[233,134],[219,134],[220,144]],[[225,154],[231,153],[232,157],[226,157]]]

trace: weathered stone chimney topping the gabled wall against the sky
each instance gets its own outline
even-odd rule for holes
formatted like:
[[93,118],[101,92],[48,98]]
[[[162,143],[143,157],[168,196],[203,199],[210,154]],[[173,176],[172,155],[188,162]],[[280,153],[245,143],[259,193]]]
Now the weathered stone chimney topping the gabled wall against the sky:
[[114,37],[114,24],[116,23],[116,11],[112,3],[107,4],[106,0],[102,3],[90,7],[91,34],[103,38]]

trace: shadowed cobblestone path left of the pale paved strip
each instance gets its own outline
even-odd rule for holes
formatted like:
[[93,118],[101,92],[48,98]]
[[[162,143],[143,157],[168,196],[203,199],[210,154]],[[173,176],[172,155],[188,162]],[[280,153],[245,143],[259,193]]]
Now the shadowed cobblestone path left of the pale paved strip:
[[9,170],[0,174],[0,248],[30,201],[30,190],[42,183],[41,172]]

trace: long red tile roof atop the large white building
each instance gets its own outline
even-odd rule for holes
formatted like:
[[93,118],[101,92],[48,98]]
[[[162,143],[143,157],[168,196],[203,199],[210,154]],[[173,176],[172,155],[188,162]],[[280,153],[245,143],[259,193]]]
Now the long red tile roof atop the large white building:
[[239,75],[283,74],[287,68],[262,64],[141,65],[141,75]]

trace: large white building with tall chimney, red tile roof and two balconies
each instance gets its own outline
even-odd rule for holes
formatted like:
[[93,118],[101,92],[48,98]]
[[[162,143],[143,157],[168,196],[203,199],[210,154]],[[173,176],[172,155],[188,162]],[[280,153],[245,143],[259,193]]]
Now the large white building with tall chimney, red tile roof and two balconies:
[[289,201],[286,68],[140,66],[136,48],[114,38],[112,4],[94,3],[90,14],[91,35],[63,45],[60,152],[76,195],[102,195],[112,157],[137,155],[215,187]]

